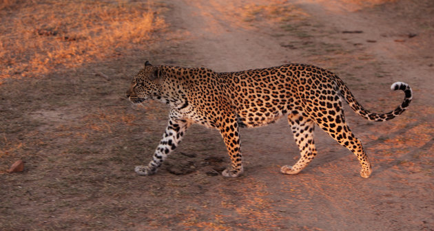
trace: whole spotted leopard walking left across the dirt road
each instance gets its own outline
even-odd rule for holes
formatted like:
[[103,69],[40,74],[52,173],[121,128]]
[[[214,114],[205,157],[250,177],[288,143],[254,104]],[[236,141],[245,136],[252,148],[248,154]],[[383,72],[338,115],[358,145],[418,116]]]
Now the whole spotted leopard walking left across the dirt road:
[[217,129],[223,137],[231,164],[221,174],[238,177],[244,171],[240,128],[267,125],[285,115],[300,158],[293,166],[282,166],[281,173],[297,174],[316,157],[313,131],[319,126],[357,157],[360,175],[368,178],[371,163],[362,142],[345,120],[342,102],[346,101],[366,120],[391,120],[403,113],[413,98],[406,83],[393,83],[391,89],[404,91],[402,103],[393,111],[373,113],[362,107],[336,74],[314,65],[291,63],[240,72],[214,72],[206,67],[151,65],[146,61],[134,76],[126,96],[133,104],[144,104],[146,100],[168,104],[169,121],[152,160],[134,170],[138,175],[156,173],[189,126],[201,124]]

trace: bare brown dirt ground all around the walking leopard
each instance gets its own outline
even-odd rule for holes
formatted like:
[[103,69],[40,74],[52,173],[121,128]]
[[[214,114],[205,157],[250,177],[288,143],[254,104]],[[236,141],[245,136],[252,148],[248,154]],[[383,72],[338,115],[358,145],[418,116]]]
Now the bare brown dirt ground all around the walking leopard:
[[[48,62],[33,75],[0,67],[0,230],[434,230],[434,1],[151,2],[165,26],[141,47],[107,45],[116,52]],[[20,17],[11,5],[0,8],[5,23]],[[4,52],[10,41],[1,42]],[[125,98],[145,61],[217,72],[318,65],[375,112],[400,104],[396,81],[414,96],[384,123],[346,108],[373,164],[369,179],[319,129],[316,159],[282,175],[299,156],[285,119],[240,131],[242,177],[216,174],[229,157],[219,133],[201,126],[142,177],[134,166],[149,162],[167,123],[165,105]],[[18,159],[25,170],[6,173]]]

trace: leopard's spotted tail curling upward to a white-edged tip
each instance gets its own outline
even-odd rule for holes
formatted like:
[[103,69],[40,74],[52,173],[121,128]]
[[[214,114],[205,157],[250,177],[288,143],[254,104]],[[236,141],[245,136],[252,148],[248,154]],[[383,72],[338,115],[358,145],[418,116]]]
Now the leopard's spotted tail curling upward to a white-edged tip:
[[362,117],[366,118],[366,120],[370,121],[386,121],[391,120],[397,115],[400,115],[403,113],[407,107],[409,107],[409,104],[411,102],[411,98],[413,98],[413,91],[411,91],[411,87],[402,82],[396,82],[391,85],[391,89],[393,91],[396,90],[402,90],[404,91],[405,97],[402,101],[402,104],[400,104],[398,107],[396,107],[395,110],[389,111],[388,113],[373,113],[370,111],[367,111],[362,107],[362,105],[355,100],[353,94],[351,94],[351,91],[349,91],[348,87],[344,85],[342,80],[340,81],[340,94],[345,98],[345,100],[348,102],[351,109],[355,111],[355,113],[358,113],[359,115],[362,115]]

